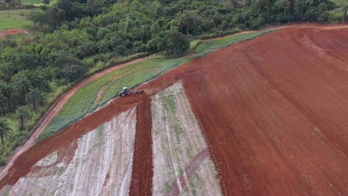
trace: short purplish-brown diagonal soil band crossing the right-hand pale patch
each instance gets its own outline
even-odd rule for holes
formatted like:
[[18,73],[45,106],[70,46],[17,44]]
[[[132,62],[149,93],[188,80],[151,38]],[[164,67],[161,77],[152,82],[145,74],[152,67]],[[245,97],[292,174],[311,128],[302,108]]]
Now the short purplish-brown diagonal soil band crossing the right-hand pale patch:
[[[196,172],[197,168],[202,164],[202,162],[204,162],[206,160],[208,155],[209,155],[209,149],[205,148],[202,151],[200,151],[190,161],[189,165],[187,165],[187,167],[185,168],[186,176],[184,176],[182,174],[179,177],[180,185],[182,186],[182,188],[184,188],[185,186],[187,186],[189,184],[189,181],[190,181],[191,177]],[[180,195],[180,188],[179,188],[179,185],[178,185],[178,181],[175,181],[175,183],[172,185],[172,187],[171,187],[169,193],[167,194],[167,196],[178,196],[178,195]]]

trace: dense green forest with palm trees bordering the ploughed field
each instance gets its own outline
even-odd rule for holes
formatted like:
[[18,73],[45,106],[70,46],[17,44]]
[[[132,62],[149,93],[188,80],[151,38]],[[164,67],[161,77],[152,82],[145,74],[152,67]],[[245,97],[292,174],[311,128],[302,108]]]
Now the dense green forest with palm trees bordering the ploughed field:
[[40,36],[0,40],[0,164],[55,98],[96,71],[152,53],[179,57],[197,39],[347,16],[329,0],[44,0],[28,18]]

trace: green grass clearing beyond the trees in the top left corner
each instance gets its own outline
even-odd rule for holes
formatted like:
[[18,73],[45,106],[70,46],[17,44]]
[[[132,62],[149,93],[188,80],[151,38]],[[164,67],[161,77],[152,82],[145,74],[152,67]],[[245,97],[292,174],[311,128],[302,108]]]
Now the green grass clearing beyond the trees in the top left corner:
[[7,10],[0,11],[0,32],[14,28],[32,28],[33,22],[27,19],[30,12],[39,9],[10,10],[10,18]]

